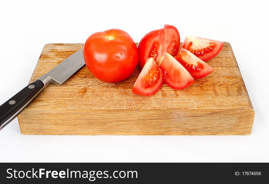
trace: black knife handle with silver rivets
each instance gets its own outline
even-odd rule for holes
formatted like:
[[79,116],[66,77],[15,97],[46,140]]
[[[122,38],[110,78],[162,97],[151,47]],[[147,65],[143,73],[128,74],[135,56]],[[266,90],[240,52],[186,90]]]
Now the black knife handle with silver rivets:
[[44,89],[44,83],[36,80],[0,106],[0,130],[17,117]]

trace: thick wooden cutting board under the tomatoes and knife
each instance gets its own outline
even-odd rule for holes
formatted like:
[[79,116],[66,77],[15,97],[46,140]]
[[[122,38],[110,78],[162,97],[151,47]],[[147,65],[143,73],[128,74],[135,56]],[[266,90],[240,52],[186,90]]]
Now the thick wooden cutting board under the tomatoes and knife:
[[[35,81],[83,44],[46,44]],[[184,90],[163,85],[153,96],[131,92],[141,69],[118,83],[99,81],[86,66],[63,85],[49,85],[19,116],[22,134],[249,135],[254,110],[231,45],[208,61],[212,74]]]

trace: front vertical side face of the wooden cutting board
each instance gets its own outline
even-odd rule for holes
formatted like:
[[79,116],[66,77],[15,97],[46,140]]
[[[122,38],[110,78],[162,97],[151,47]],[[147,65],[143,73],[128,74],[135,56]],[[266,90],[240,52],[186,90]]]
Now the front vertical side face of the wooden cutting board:
[[251,109],[207,111],[164,109],[163,111],[126,110],[124,112],[79,109],[54,110],[53,113],[49,110],[25,111],[19,117],[21,133],[27,135],[249,135],[254,120],[254,111]]

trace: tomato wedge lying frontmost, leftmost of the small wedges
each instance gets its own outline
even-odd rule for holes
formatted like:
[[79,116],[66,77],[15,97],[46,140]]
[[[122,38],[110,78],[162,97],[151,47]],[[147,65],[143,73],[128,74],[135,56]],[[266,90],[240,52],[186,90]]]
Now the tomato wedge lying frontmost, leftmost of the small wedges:
[[150,96],[155,94],[163,83],[163,71],[151,57],[148,58],[145,66],[136,79],[132,92],[138,95]]

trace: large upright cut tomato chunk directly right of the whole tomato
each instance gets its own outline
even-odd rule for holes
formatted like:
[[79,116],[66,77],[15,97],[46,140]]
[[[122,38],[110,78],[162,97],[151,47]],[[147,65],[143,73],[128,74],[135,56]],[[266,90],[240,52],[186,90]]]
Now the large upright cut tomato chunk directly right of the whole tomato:
[[164,25],[163,29],[150,31],[138,44],[138,64],[144,67],[147,59],[152,57],[159,65],[168,52],[175,56],[179,51],[179,31],[171,25]]

